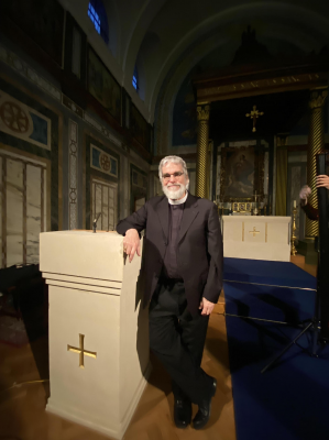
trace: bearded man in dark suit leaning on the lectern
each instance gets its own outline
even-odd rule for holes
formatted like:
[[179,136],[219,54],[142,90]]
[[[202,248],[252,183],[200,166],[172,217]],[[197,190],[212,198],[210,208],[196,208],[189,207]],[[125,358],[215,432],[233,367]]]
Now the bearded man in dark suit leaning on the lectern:
[[150,348],[172,377],[174,419],[178,428],[193,420],[201,429],[209,420],[217,382],[200,367],[209,315],[222,288],[222,238],[217,207],[188,193],[186,163],[164,157],[158,176],[165,196],[156,196],[117,231],[132,261],[141,254],[141,284],[150,309]]

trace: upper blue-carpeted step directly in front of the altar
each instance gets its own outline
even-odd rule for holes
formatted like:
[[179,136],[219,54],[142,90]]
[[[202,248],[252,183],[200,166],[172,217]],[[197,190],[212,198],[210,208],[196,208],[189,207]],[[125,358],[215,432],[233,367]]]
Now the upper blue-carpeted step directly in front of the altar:
[[224,258],[226,280],[316,289],[316,278],[293,263]]

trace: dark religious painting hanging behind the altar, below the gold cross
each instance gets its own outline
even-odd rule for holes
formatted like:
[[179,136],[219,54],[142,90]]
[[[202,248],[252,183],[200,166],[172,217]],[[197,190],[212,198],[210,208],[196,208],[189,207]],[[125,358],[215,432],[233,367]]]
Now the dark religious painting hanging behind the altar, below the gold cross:
[[263,198],[264,154],[255,146],[221,150],[220,199],[222,201]]

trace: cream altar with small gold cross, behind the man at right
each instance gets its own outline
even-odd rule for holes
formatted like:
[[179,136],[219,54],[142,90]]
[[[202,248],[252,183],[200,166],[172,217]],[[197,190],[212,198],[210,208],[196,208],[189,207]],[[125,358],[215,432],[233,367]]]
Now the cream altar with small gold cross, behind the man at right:
[[222,216],[223,255],[290,261],[290,217]]

